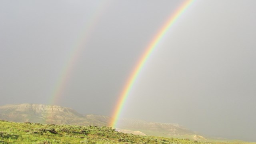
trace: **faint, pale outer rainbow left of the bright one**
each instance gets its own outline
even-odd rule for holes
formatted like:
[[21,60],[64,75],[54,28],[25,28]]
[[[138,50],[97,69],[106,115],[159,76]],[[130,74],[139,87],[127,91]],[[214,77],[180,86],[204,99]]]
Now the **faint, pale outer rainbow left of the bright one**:
[[103,14],[103,11],[110,4],[109,0],[101,0],[97,2],[98,3],[91,12],[90,17],[87,21],[85,21],[84,27],[80,31],[80,35],[78,35],[77,41],[75,42],[74,46],[70,48],[67,59],[63,62],[65,65],[63,66],[59,74],[58,80],[56,81],[55,87],[50,97],[50,105],[58,104],[58,101],[61,99],[65,86],[70,79],[72,70],[74,69],[74,65],[76,64],[76,61],[78,60],[78,58],[80,58],[80,54],[86,47],[86,42],[90,37],[91,31],[94,30],[94,26],[96,26],[98,20]]

